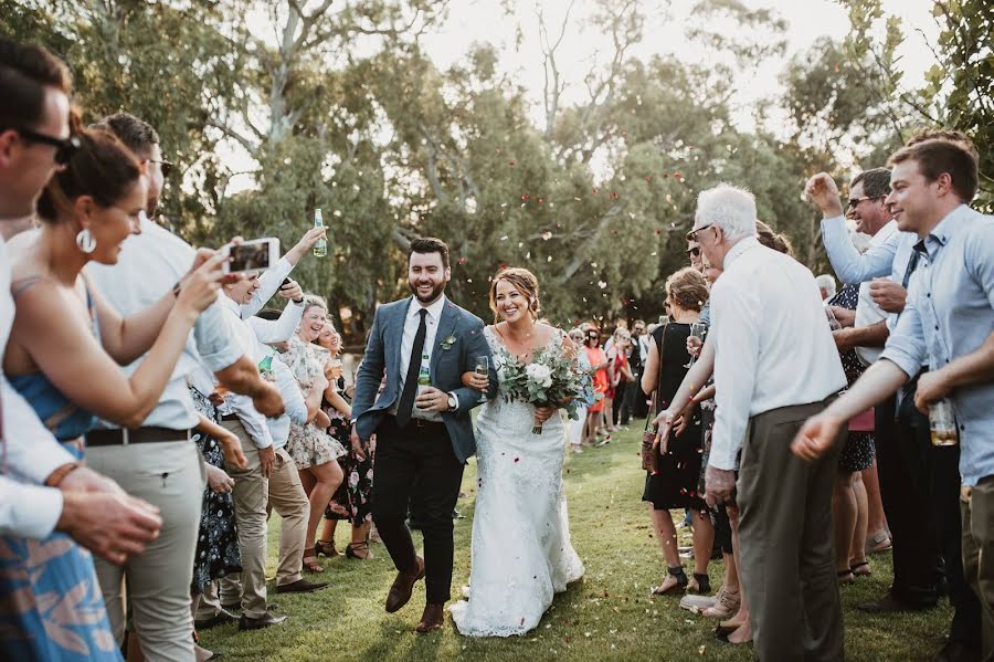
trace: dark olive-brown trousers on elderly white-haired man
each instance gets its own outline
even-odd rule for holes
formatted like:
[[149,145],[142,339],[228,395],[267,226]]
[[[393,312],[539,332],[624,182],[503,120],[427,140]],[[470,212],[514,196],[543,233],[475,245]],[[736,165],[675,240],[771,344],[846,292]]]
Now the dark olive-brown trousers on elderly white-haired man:
[[844,659],[832,486],[846,429],[815,462],[790,450],[804,421],[827,403],[752,417],[742,446],[737,496],[741,572],[762,661]]

